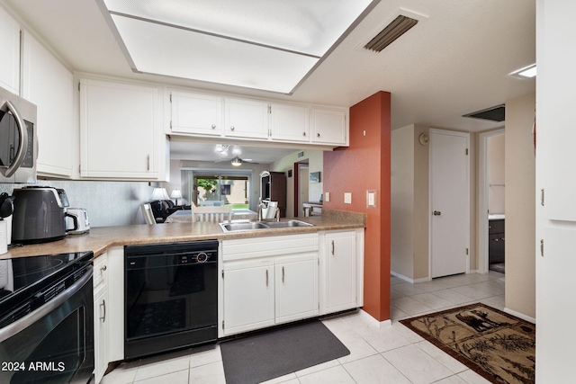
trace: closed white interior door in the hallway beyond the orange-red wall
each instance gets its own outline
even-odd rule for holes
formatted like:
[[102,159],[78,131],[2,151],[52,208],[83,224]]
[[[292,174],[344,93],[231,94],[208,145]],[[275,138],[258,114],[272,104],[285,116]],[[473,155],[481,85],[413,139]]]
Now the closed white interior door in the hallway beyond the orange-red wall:
[[468,272],[469,134],[430,129],[430,276]]

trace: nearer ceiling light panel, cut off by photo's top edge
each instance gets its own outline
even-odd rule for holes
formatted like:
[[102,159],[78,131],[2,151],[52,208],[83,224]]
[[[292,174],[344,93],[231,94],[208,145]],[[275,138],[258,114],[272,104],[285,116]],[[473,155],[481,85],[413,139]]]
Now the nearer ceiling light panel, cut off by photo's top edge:
[[105,0],[130,14],[196,31],[322,56],[372,0]]

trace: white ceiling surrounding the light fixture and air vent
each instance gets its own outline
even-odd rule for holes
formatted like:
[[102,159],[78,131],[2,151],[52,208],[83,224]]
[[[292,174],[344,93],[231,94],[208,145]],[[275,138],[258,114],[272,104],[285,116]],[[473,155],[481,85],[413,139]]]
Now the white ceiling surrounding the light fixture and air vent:
[[[133,73],[96,0],[0,1],[71,70],[346,107],[383,90],[392,94],[392,129],[412,123],[471,132],[501,127],[461,116],[536,92],[535,79],[509,76],[536,61],[534,1],[381,1],[291,95]],[[381,53],[358,48],[401,9],[419,14],[418,25]]]

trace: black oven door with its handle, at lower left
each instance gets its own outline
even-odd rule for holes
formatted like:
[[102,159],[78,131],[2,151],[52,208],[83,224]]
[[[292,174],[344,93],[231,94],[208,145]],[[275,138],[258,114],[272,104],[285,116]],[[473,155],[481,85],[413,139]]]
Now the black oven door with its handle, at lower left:
[[92,267],[42,307],[0,329],[1,383],[87,383],[94,371]]

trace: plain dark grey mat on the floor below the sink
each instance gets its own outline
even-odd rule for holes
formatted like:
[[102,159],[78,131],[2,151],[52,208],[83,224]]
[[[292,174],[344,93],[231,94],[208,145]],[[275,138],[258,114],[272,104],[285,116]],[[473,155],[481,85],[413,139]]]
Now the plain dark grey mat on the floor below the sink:
[[350,354],[320,321],[220,344],[227,384],[259,383]]

